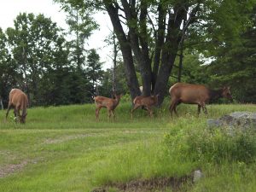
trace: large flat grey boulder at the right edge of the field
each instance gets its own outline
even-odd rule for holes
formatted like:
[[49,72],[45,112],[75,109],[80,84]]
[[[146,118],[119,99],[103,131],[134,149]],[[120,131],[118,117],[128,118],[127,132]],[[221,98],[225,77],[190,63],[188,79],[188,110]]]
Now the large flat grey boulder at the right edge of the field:
[[241,129],[253,128],[256,130],[256,113],[234,112],[225,114],[220,119],[207,119],[209,127],[241,127]]

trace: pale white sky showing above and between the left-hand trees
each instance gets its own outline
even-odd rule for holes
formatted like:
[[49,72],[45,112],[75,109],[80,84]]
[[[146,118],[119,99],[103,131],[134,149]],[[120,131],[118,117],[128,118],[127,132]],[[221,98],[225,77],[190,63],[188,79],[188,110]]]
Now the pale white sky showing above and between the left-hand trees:
[[[44,14],[56,22],[58,26],[67,29],[66,14],[61,10],[61,6],[53,3],[53,0],[0,0],[0,27],[6,30],[8,27],[14,26],[14,20],[20,13],[33,13],[34,15]],[[100,30],[96,30],[94,34],[86,41],[85,49],[97,49],[97,53],[101,56],[101,61],[105,62],[103,68],[112,66],[109,59],[110,48],[106,47],[103,42],[112,29],[112,24],[108,15],[97,14],[95,19],[100,25]]]

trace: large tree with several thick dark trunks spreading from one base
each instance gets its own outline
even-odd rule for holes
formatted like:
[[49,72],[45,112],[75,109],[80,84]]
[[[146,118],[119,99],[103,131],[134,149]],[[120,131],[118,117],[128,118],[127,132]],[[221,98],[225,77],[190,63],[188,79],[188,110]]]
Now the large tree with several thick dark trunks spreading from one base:
[[[84,10],[92,9],[91,6],[106,10],[119,40],[131,98],[140,94],[133,53],[143,81],[143,94],[150,95],[152,84],[154,94],[160,93],[161,103],[177,51],[183,40],[191,37],[190,34],[207,37],[207,41],[212,40],[216,34],[222,34],[219,37],[236,37],[241,26],[246,24],[244,19],[247,11],[252,8],[253,0],[58,2],[79,5]],[[194,31],[190,32],[190,29]]]

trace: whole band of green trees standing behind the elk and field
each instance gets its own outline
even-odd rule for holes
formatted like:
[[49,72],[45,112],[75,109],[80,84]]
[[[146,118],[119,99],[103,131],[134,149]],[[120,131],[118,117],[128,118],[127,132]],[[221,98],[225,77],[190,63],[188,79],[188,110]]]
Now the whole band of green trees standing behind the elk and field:
[[[68,31],[44,15],[20,13],[0,28],[0,96],[20,88],[30,106],[92,102],[94,95],[127,100],[160,93],[177,81],[230,86],[236,102],[256,102],[255,1],[62,1]],[[84,44],[110,16],[113,67],[103,70],[96,49]]]

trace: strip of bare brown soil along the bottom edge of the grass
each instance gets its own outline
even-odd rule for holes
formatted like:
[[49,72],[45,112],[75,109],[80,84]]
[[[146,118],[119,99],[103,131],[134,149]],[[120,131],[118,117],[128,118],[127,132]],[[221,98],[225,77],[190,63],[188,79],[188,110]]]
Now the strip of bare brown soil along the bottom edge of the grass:
[[184,183],[192,183],[191,176],[180,178],[174,177],[160,177],[145,180],[131,181],[130,183],[113,183],[103,188],[93,189],[91,192],[108,192],[108,189],[116,188],[120,192],[148,192],[148,191],[172,191],[183,192]]

